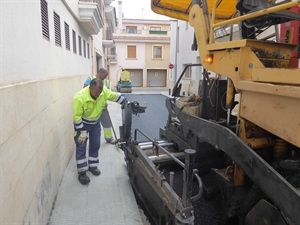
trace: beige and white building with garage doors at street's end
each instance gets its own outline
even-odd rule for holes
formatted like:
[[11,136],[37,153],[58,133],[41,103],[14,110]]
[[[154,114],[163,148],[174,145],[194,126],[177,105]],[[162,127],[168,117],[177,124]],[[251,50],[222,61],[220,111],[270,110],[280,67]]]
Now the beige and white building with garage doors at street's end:
[[130,72],[136,88],[169,88],[170,21],[123,19],[113,34],[116,57],[109,61],[111,88],[115,90],[121,70]]

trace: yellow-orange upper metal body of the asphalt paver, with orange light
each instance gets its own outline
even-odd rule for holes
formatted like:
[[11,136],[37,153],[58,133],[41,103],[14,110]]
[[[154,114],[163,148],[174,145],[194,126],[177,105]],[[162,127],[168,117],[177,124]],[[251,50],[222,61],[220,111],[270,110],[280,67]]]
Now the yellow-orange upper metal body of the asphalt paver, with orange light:
[[[231,92],[227,90],[227,103],[234,93],[240,93],[240,120],[251,121],[300,147],[300,69],[289,67],[297,45],[252,39],[215,43],[213,36],[218,27],[299,7],[299,1],[243,16],[235,13],[236,1],[204,3],[200,7],[192,1],[152,0],[151,6],[156,13],[188,20],[194,27],[203,67],[227,76],[233,84]],[[207,56],[213,61],[206,62]]]

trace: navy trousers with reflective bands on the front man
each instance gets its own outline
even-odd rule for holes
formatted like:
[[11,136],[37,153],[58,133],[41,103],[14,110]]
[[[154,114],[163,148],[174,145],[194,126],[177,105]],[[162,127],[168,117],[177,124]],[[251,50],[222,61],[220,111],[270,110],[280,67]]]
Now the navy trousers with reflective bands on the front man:
[[86,172],[89,167],[97,167],[99,165],[99,148],[100,148],[100,135],[101,135],[101,127],[100,123],[94,125],[84,125],[84,130],[88,132],[89,140],[89,151],[88,151],[88,160],[87,160],[87,140],[79,144],[78,136],[80,132],[77,132],[74,137],[74,141],[76,144],[76,166],[77,172],[82,173]]

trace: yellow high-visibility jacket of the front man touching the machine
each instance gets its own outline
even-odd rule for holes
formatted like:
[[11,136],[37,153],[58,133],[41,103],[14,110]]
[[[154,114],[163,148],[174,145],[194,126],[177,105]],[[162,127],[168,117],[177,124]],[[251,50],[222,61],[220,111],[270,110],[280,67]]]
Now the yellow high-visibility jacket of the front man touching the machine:
[[72,101],[75,130],[82,130],[84,124],[99,122],[107,100],[123,104],[124,99],[120,93],[113,92],[105,86],[96,100],[90,95],[90,86],[81,89],[74,95]]

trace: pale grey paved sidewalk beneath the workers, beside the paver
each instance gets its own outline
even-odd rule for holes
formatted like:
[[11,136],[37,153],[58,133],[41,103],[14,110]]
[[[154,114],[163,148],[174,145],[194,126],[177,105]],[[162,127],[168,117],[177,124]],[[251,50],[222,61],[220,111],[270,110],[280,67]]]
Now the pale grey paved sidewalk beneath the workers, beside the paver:
[[[121,107],[108,103],[108,110],[119,137]],[[74,147],[75,153],[75,147]],[[48,225],[143,225],[127,175],[123,151],[108,144],[101,135],[99,152],[101,175],[87,175],[91,182],[77,180],[75,154],[65,170]]]

